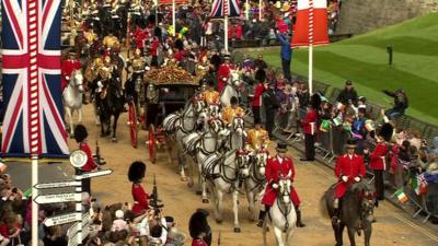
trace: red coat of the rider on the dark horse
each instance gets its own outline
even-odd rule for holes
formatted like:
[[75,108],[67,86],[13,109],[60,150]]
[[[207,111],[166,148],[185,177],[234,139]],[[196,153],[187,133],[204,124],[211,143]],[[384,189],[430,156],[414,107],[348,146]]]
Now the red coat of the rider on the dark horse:
[[[335,166],[335,175],[339,178],[336,185],[336,198],[342,198],[348,187],[355,183],[355,177],[365,176],[364,159],[360,155],[354,154],[350,159],[348,154],[343,154],[337,157]],[[348,176],[348,181],[344,183],[341,177]]]

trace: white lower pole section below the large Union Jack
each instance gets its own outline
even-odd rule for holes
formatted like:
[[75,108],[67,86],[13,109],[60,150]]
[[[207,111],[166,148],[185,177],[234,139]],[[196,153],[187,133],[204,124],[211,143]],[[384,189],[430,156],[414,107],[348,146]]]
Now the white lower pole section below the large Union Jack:
[[38,190],[38,155],[32,155],[32,246],[38,246],[38,204],[35,202]]

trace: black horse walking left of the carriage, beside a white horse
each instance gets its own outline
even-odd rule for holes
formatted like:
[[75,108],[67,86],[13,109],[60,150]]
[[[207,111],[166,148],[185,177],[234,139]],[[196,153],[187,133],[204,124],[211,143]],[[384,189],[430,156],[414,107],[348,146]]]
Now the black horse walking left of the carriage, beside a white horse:
[[103,90],[96,93],[95,101],[101,119],[101,137],[111,134],[111,118],[113,117],[113,142],[116,142],[117,121],[124,106],[119,78],[112,77],[103,81]]

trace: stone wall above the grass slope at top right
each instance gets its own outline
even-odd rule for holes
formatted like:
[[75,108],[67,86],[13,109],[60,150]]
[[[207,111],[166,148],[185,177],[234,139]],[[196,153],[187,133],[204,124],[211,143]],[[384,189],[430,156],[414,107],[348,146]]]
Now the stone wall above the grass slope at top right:
[[429,12],[438,12],[438,0],[342,0],[336,33],[361,34]]

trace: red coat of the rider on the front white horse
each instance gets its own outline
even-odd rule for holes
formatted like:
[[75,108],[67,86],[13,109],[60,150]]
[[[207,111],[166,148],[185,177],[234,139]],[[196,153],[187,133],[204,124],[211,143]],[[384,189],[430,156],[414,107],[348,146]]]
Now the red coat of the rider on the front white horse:
[[[292,159],[284,157],[281,163],[278,161],[277,156],[267,160],[265,176],[268,185],[266,186],[265,195],[262,200],[263,204],[266,206],[274,204],[274,201],[277,198],[277,190],[273,188],[273,184],[278,183],[279,180],[278,174],[286,176],[289,174],[289,171],[291,172],[290,180],[293,181],[295,166]],[[295,206],[300,206],[300,198],[298,197],[298,194],[295,190],[293,186],[291,187],[290,190],[290,199],[292,200]]]

